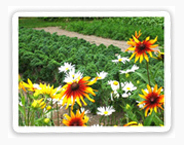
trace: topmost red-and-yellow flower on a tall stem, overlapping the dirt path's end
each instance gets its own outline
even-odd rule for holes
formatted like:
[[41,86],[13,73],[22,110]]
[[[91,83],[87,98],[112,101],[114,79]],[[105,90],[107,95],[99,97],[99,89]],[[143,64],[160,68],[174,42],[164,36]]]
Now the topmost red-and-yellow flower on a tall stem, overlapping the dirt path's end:
[[152,52],[156,51],[153,50],[152,48],[156,48],[158,44],[153,45],[157,41],[157,37],[155,39],[150,40],[150,37],[147,37],[145,40],[142,42],[139,41],[135,36],[132,36],[133,40],[130,40],[127,42],[127,44],[130,45],[129,48],[127,48],[125,51],[134,51],[131,57],[129,58],[130,60],[135,56],[135,62],[140,58],[140,63],[145,60],[148,62],[149,58],[147,53],[152,56]]

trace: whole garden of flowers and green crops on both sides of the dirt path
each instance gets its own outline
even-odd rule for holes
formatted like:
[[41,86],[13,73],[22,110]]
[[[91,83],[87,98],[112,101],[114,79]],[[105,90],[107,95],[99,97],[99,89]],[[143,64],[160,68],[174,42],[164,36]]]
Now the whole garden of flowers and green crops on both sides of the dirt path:
[[[86,19],[32,21],[130,47],[97,46],[19,20],[19,126],[164,126],[163,18]],[[100,116],[98,124],[88,114]]]

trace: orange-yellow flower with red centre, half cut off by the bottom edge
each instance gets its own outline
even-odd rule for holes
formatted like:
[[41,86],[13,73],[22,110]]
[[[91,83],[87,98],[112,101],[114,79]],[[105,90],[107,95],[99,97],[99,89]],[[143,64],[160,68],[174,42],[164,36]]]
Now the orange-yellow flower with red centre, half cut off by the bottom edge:
[[77,110],[76,115],[71,111],[71,116],[64,114],[65,119],[62,122],[66,126],[86,126],[89,118],[85,117],[84,114],[85,111],[80,114],[79,110]]

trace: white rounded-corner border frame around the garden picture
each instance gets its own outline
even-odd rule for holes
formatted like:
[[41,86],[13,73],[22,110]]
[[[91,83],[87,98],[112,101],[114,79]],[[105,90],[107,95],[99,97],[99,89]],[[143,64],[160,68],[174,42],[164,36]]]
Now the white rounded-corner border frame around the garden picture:
[[[18,20],[19,17],[164,17],[165,111],[163,127],[21,127],[18,126]],[[13,129],[18,133],[167,132],[171,128],[171,18],[166,11],[16,12],[12,17]]]

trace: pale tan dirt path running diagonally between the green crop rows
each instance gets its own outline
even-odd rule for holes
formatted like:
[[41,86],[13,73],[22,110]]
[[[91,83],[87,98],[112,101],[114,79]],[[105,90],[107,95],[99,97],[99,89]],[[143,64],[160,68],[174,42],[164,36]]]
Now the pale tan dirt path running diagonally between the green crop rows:
[[76,32],[62,30],[59,27],[45,27],[45,28],[35,28],[35,29],[36,30],[44,29],[46,32],[50,32],[51,34],[57,32],[58,35],[66,35],[69,37],[82,38],[82,39],[85,39],[86,41],[89,41],[90,43],[96,44],[96,45],[104,44],[105,46],[108,47],[109,45],[112,44],[114,46],[121,48],[122,51],[125,51],[125,49],[127,49],[129,47],[129,45],[126,44],[126,41],[112,40],[112,39],[97,37],[94,35],[83,35],[83,34],[79,34]]

